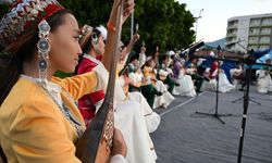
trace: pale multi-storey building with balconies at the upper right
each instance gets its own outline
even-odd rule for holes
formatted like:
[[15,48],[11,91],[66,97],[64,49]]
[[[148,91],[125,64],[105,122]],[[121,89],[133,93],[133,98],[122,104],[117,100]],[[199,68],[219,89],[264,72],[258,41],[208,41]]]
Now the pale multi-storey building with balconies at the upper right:
[[272,48],[272,13],[228,18],[226,48],[244,52]]

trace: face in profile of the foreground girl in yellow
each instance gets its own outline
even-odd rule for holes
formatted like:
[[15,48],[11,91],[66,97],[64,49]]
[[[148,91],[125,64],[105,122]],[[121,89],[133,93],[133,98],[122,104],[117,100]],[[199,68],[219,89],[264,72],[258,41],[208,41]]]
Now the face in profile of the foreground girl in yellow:
[[63,15],[63,21],[64,23],[49,35],[51,45],[49,66],[55,71],[72,73],[82,54],[78,43],[79,27],[72,14]]

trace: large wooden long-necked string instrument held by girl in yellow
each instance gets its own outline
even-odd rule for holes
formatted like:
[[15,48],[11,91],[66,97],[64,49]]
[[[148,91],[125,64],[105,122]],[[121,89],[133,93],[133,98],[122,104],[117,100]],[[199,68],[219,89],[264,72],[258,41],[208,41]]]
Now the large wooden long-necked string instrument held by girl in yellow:
[[83,163],[107,163],[111,156],[114,129],[113,97],[124,0],[120,0],[118,8],[114,50],[112,50],[111,55],[110,75],[104,101],[76,145],[76,156]]

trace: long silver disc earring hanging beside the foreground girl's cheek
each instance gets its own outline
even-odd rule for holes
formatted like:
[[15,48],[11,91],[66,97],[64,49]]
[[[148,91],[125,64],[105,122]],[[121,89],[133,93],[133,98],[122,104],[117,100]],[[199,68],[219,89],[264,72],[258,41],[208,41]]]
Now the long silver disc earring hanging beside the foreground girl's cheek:
[[39,25],[39,41],[37,43],[38,48],[38,70],[39,70],[39,82],[44,88],[47,88],[47,66],[48,66],[48,59],[49,59],[49,32],[50,26],[46,20],[42,20]]

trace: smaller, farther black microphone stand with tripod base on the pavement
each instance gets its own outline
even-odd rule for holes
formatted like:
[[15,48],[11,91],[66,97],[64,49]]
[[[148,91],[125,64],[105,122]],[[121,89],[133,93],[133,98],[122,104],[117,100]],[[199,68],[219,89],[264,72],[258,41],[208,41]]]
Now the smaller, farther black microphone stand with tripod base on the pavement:
[[[218,57],[220,54],[220,50],[221,50],[221,47],[218,46]],[[215,117],[217,120],[219,120],[222,124],[225,124],[225,122],[221,118],[221,116],[232,116],[232,114],[219,114],[219,110],[218,110],[218,106],[219,106],[219,68],[220,68],[220,62],[218,59],[215,59],[217,62],[218,62],[218,74],[217,74],[217,98],[215,98],[215,111],[214,113],[205,113],[205,112],[198,112],[196,111],[197,114],[202,114],[202,115],[208,115],[208,116],[212,116],[212,117]]]

